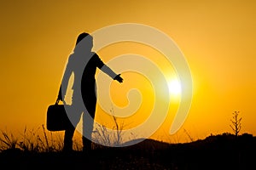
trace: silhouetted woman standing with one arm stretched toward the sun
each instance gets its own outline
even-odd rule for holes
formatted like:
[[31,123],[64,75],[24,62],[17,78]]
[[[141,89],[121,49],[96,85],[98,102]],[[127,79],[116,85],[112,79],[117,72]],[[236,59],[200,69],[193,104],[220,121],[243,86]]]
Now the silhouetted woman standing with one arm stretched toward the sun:
[[[71,111],[67,111],[72,125],[65,131],[63,150],[73,150],[73,134],[82,113],[83,150],[90,150],[91,141],[85,138],[85,135],[91,136],[93,122],[89,121],[89,115],[92,117],[92,120],[94,120],[96,112],[96,68],[107,73],[113,80],[123,82],[123,78],[120,77],[120,74],[114,73],[108,65],[102,62],[102,59],[100,59],[96,53],[91,51],[92,47],[93,37],[88,33],[81,33],[77,38],[73,54],[70,54],[68,58],[67,67],[62,78],[58,100],[63,101],[64,105],[66,105],[65,99],[63,99],[62,96],[67,92],[68,81],[73,74],[72,109]],[[85,105],[85,109],[82,105]],[[70,115],[70,112],[72,112],[72,115]]]

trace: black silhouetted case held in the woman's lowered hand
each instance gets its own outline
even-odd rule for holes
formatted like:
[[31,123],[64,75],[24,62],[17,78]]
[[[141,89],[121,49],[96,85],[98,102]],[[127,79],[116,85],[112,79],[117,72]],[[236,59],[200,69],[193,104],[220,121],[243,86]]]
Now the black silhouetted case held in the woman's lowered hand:
[[[46,128],[49,131],[66,130],[71,122],[67,116],[64,105],[59,105],[59,99],[56,100],[54,105],[49,105],[46,116]],[[67,107],[67,106],[66,106]]]

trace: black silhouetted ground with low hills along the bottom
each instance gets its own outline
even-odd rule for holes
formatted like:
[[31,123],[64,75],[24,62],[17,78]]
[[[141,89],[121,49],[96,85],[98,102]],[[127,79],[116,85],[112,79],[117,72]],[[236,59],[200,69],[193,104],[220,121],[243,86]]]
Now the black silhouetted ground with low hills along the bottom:
[[250,134],[210,136],[187,144],[166,144],[145,140],[125,148],[90,152],[33,153],[3,150],[0,164],[8,169],[256,169],[256,139]]

